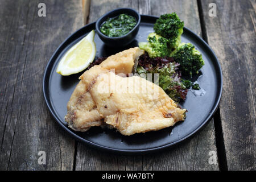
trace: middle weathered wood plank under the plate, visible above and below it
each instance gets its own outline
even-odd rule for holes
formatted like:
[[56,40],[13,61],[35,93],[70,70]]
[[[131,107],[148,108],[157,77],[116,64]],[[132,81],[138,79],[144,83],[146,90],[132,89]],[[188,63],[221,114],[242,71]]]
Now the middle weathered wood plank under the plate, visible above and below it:
[[[141,14],[160,15],[176,11],[185,26],[201,36],[197,1],[92,1],[89,21],[118,7],[131,7]],[[209,151],[216,151],[213,121],[187,142],[151,155],[124,156],[108,154],[77,145],[76,170],[217,170],[208,163]]]

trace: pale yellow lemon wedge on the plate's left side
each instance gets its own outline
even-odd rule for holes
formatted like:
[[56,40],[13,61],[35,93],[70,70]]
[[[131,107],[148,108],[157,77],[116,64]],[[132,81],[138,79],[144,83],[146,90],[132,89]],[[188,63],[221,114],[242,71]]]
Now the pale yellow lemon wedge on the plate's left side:
[[86,69],[96,55],[94,35],[94,30],[90,31],[88,35],[70,48],[61,58],[56,72],[60,75],[67,76]]

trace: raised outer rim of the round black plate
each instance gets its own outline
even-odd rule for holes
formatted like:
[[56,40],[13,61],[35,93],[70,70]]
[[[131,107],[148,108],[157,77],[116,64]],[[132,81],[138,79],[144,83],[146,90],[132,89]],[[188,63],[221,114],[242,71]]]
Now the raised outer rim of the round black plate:
[[[141,23],[143,23],[145,20],[156,20],[158,19],[158,16],[154,16],[154,15],[143,15],[141,14]],[[147,23],[147,22],[146,22]],[[185,137],[180,138],[179,140],[176,140],[175,142],[172,143],[168,143],[168,144],[164,144],[163,146],[158,146],[158,147],[153,147],[153,148],[147,148],[147,149],[139,149],[139,150],[122,150],[122,149],[118,149],[118,148],[112,148],[112,147],[106,147],[106,146],[101,146],[100,144],[97,143],[93,143],[90,142],[89,140],[86,140],[82,137],[80,137],[79,135],[77,135],[76,133],[74,133],[73,131],[69,130],[67,125],[64,125],[63,122],[60,121],[60,119],[57,117],[57,114],[55,113],[55,111],[53,110],[52,106],[51,106],[51,100],[49,99],[49,96],[47,96],[47,88],[48,88],[48,80],[47,78],[49,78],[51,76],[51,74],[49,74],[48,72],[51,72],[51,65],[53,65],[56,61],[55,57],[59,56],[58,52],[61,52],[63,49],[62,47],[65,47],[65,44],[67,44],[68,40],[72,38],[72,36],[75,36],[76,34],[78,34],[80,31],[83,31],[85,28],[88,27],[95,27],[96,22],[92,22],[89,24],[86,24],[85,26],[79,28],[79,30],[73,32],[71,35],[69,35],[61,44],[60,46],[55,50],[55,52],[53,53],[53,55],[51,56],[51,58],[49,59],[46,68],[44,69],[44,75],[43,75],[43,96],[44,96],[44,100],[46,101],[46,105],[52,115],[52,117],[57,121],[57,123],[59,123],[59,125],[61,126],[62,129],[64,129],[65,131],[68,132],[69,135],[71,135],[71,137],[83,144],[86,144],[87,146],[93,147],[93,148],[97,148],[100,150],[104,150],[104,151],[109,151],[109,152],[118,152],[121,154],[145,154],[145,153],[151,153],[151,152],[155,152],[155,151],[162,151],[165,150],[167,148],[171,148],[176,146],[178,143],[184,142],[185,140],[187,140],[188,138],[191,138],[193,135],[195,135],[198,131],[200,131],[201,129],[203,129],[203,127],[205,126],[205,124],[210,121],[210,119],[212,119],[213,114],[216,112],[216,110],[218,109],[218,106],[220,105],[220,100],[221,100],[221,96],[222,96],[222,87],[223,87],[223,78],[222,78],[222,69],[221,69],[221,65],[220,62],[218,61],[218,58],[216,56],[216,54],[214,53],[213,49],[210,48],[210,46],[208,45],[207,42],[204,41],[203,38],[200,38],[200,36],[197,36],[193,31],[189,30],[189,28],[184,27],[184,31],[187,31],[189,34],[192,34],[194,38],[196,38],[199,42],[203,43],[203,45],[205,46],[204,49],[206,52],[209,53],[209,55],[213,56],[213,59],[215,59],[216,63],[214,64],[216,67],[216,70],[219,72],[217,80],[220,82],[220,88],[218,89],[218,94],[215,100],[217,100],[217,102],[213,105],[213,109],[212,112],[208,115],[208,117],[204,120],[204,122],[201,123],[201,125],[199,125],[199,127],[197,127],[193,132],[191,132],[188,135],[185,135]],[[206,50],[208,49],[208,50]],[[216,73],[216,72],[215,72]]]

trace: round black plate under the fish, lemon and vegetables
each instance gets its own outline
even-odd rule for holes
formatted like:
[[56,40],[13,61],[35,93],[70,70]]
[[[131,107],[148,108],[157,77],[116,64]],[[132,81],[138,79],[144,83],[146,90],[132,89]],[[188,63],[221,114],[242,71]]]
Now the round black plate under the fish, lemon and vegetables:
[[[157,17],[142,15],[141,18],[138,35],[129,46],[117,49],[108,48],[96,33],[94,38],[97,47],[96,58],[110,56],[127,48],[138,46],[138,42],[145,42],[147,35],[153,31],[152,27]],[[195,93],[195,90],[189,90],[187,99],[184,103],[181,103],[181,106],[188,110],[187,118],[184,122],[178,122],[174,127],[159,131],[150,131],[131,136],[123,136],[115,130],[101,129],[101,127],[92,127],[85,133],[69,129],[64,121],[64,116],[67,113],[67,103],[79,82],[78,78],[81,73],[72,76],[61,76],[56,73],[56,67],[67,49],[71,48],[93,29],[95,29],[95,22],[82,27],[69,36],[49,60],[43,78],[43,92],[46,104],[59,125],[72,137],[82,143],[109,151],[126,153],[150,152],[173,146],[187,139],[209,121],[214,111],[216,111],[221,98],[222,73],[220,64],[208,44],[188,28],[184,28],[181,41],[194,44],[205,60],[205,65],[201,69],[197,80],[205,92],[200,90]],[[200,96],[201,93],[203,93],[203,96]]]

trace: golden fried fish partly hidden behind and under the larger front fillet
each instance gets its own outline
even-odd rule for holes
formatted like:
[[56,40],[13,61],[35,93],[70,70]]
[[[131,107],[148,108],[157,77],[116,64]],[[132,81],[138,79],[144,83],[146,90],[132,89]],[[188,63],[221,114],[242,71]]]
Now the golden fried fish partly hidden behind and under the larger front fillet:
[[[130,48],[108,57],[103,61],[98,69],[89,69],[85,73],[86,79],[93,79],[93,75],[97,76],[100,73],[109,72],[110,69],[115,69],[115,73],[124,73],[127,75],[133,70],[134,61],[144,53],[138,47]],[[84,74],[85,74],[84,73]],[[84,75],[83,74],[83,75]],[[84,77],[80,76],[80,79]],[[72,96],[67,105],[67,115],[65,121],[68,126],[75,131],[87,131],[92,126],[102,125],[102,115],[98,113],[96,104],[88,92],[88,85],[80,81],[72,93]]]

